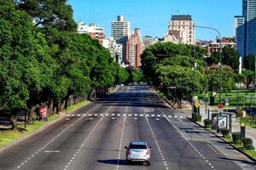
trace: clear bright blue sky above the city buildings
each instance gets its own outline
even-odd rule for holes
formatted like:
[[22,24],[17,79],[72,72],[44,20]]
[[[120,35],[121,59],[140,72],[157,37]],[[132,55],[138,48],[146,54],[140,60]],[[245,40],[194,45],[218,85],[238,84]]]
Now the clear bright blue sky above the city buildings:
[[[142,36],[164,37],[174,14],[189,14],[195,26],[212,27],[221,37],[234,36],[234,17],[241,15],[241,0],[68,0],[76,22],[96,23],[111,36],[111,22],[118,15],[130,21],[131,32]],[[195,28],[196,40],[215,41],[217,31]]]

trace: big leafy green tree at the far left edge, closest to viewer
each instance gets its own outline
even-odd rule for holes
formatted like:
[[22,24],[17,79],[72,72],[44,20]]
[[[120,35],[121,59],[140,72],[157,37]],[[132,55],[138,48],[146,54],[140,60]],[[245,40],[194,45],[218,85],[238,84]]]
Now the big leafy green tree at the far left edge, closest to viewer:
[[10,0],[0,1],[0,30],[0,111],[9,113],[17,130],[15,110],[25,107],[31,94],[42,91],[48,65],[44,56],[48,56],[41,46],[44,38],[34,31],[32,18],[17,10]]

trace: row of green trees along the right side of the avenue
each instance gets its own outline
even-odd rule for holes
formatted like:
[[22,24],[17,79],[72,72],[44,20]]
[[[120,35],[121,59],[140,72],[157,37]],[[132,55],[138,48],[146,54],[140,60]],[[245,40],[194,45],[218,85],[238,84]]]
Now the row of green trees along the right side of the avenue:
[[[219,90],[219,54],[205,57],[207,50],[186,44],[159,42],[147,48],[142,54],[142,70],[147,82],[172,100],[177,108],[182,99],[191,101],[194,90],[202,93]],[[194,58],[196,63],[194,69]],[[222,90],[236,89],[236,83],[247,87],[254,81],[254,56],[244,60],[244,68],[238,74],[239,54],[230,45],[222,51]],[[251,66],[251,67],[250,67]],[[175,87],[175,88],[172,88]],[[224,102],[224,101],[223,101]]]

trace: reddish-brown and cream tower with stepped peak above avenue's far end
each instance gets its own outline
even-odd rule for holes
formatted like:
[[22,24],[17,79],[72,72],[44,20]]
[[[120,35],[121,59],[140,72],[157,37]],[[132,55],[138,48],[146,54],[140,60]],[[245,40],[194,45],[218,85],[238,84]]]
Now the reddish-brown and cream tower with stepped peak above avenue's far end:
[[126,43],[126,61],[129,65],[140,66],[141,54],[144,50],[143,38],[141,37],[141,31],[135,28],[134,32],[129,37]]

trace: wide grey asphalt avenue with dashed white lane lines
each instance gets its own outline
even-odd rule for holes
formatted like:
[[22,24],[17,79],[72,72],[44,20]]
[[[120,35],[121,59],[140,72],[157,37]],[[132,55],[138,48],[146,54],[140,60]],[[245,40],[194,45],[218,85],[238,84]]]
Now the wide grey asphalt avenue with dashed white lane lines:
[[[151,166],[128,165],[125,145],[152,147]],[[147,86],[125,86],[0,151],[2,170],[256,169]]]

